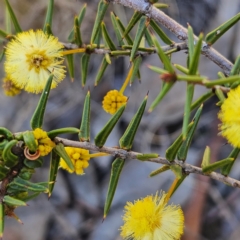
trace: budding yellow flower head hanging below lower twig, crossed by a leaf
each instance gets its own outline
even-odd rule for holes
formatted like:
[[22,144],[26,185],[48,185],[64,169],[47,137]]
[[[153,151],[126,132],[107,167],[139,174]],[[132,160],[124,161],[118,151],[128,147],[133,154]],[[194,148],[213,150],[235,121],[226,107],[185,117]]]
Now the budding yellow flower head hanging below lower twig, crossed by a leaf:
[[84,174],[83,169],[89,166],[90,154],[89,151],[82,148],[74,148],[74,147],[65,147],[65,150],[70,157],[73,165],[74,171],[72,171],[66,162],[61,158],[60,167],[67,170],[70,173],[75,172],[76,174]]

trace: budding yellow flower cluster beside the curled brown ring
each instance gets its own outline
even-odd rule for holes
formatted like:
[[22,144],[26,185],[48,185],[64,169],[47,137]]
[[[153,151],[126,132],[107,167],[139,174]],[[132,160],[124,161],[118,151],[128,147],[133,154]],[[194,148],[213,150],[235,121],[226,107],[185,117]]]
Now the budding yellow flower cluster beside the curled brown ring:
[[41,156],[48,155],[55,147],[55,143],[48,137],[47,133],[41,128],[36,128],[33,131],[34,138],[38,145],[38,150]]

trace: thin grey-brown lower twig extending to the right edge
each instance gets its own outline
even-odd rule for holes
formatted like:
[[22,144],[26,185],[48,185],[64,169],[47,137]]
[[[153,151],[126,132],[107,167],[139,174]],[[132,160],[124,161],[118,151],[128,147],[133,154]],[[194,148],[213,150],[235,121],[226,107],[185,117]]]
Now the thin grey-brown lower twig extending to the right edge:
[[[119,149],[118,147],[102,147],[102,148],[99,148],[96,145],[94,145],[92,143],[89,143],[89,142],[77,142],[77,141],[71,141],[71,140],[64,139],[64,138],[59,138],[59,137],[55,138],[55,142],[56,143],[61,142],[61,143],[64,144],[64,146],[83,148],[83,149],[87,149],[87,150],[95,151],[95,152],[109,153],[112,156],[120,157],[120,158],[123,158],[123,159],[137,159],[137,155],[142,155],[142,153],[133,152],[133,151],[126,151],[126,150],[123,150],[123,149]],[[183,161],[174,160],[172,162],[169,162],[166,158],[163,158],[163,157],[151,158],[151,159],[148,159],[146,161],[166,164],[166,165],[169,165],[169,166],[170,165],[179,165],[179,166],[182,167],[183,171],[186,174],[196,173],[196,174],[208,176],[212,179],[215,179],[219,182],[223,182],[223,183],[225,183],[227,185],[230,185],[232,187],[240,188],[240,181],[238,181],[234,178],[226,177],[226,176],[223,176],[222,174],[219,174],[219,173],[216,173],[216,172],[203,173],[201,168],[193,166],[193,165],[188,164],[188,163],[185,163]]]

